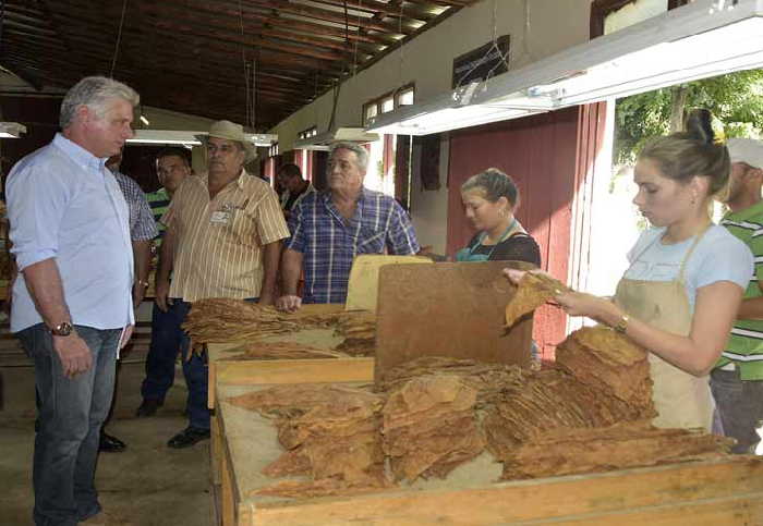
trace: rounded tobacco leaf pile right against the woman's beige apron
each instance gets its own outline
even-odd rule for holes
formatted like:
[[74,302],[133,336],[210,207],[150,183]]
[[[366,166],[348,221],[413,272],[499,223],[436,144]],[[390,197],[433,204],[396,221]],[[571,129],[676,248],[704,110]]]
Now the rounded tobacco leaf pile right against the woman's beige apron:
[[556,348],[556,365],[585,386],[656,415],[646,351],[605,326],[574,331]]

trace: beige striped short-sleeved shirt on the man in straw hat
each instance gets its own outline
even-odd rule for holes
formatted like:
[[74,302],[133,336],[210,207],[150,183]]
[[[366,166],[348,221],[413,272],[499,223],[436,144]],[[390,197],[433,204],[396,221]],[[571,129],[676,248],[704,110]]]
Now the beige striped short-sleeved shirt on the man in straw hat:
[[175,240],[170,297],[257,297],[263,245],[289,237],[278,197],[245,170],[211,200],[207,181],[186,178],[161,218]]

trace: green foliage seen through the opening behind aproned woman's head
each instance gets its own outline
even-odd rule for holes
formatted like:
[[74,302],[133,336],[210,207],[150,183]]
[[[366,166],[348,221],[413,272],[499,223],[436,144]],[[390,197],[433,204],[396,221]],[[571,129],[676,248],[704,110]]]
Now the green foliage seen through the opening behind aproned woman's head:
[[712,111],[713,127],[720,138],[763,138],[763,70],[729,73],[618,100],[616,166],[632,166],[646,140],[670,133],[674,105],[680,106],[679,114],[692,108]]

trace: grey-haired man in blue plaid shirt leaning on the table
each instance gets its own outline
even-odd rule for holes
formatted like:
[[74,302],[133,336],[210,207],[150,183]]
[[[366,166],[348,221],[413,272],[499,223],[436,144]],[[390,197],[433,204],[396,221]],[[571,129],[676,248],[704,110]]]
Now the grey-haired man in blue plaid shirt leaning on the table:
[[[337,143],[328,162],[328,192],[305,196],[289,218],[291,238],[281,258],[283,295],[276,306],[344,303],[352,260],[359,254],[411,255],[420,250],[408,213],[390,196],[363,187],[368,152]],[[296,295],[304,268],[303,297]]]

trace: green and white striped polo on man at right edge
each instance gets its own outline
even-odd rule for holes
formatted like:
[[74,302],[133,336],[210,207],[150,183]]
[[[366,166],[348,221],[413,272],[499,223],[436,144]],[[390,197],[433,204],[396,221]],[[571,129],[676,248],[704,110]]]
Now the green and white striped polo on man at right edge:
[[[750,248],[755,258],[755,273],[744,298],[763,296],[763,200],[738,212],[727,213],[720,224]],[[736,320],[731,335],[716,367],[734,363],[742,380],[763,380],[763,320]]]

